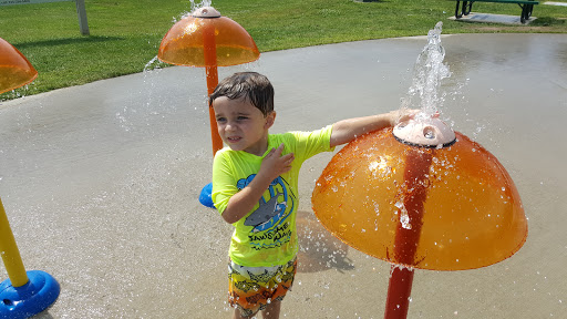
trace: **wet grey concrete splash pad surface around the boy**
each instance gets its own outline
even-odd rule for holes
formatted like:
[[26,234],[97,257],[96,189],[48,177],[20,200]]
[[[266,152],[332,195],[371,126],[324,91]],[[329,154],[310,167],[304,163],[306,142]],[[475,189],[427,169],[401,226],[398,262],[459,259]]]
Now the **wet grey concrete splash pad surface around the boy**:
[[[408,38],[270,52],[221,70],[219,79],[265,73],[276,89],[272,132],[313,130],[398,109],[424,43]],[[506,167],[530,233],[514,258],[497,265],[417,272],[409,318],[567,311],[567,176],[560,168],[567,150],[553,143],[567,119],[566,45],[561,34],[443,38],[453,74],[442,88],[442,116]],[[198,69],[169,68],[0,104],[8,217],[27,268],[41,267],[61,284],[58,302],[38,318],[230,317],[231,229],[197,200],[210,179],[204,79]],[[310,213],[315,181],[331,155],[303,166],[298,227],[305,261],[282,315],[381,317],[390,265],[337,243]],[[369,295],[380,301],[369,305]]]

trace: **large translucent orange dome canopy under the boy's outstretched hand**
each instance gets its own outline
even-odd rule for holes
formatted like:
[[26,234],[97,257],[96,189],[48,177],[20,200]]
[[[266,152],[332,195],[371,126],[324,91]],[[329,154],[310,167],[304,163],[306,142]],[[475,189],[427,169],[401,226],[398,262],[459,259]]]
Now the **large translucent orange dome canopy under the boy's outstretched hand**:
[[384,128],[350,143],[317,181],[320,223],[353,248],[408,267],[463,270],[511,257],[527,237],[518,192],[494,155],[455,135],[427,148]]

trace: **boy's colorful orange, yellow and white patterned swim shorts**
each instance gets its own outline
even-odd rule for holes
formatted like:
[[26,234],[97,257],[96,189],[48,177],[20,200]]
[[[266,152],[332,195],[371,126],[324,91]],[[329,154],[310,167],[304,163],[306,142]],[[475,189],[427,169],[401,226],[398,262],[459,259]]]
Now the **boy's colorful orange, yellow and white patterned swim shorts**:
[[296,276],[297,258],[275,267],[244,267],[228,263],[228,302],[250,317],[274,300],[284,300]]

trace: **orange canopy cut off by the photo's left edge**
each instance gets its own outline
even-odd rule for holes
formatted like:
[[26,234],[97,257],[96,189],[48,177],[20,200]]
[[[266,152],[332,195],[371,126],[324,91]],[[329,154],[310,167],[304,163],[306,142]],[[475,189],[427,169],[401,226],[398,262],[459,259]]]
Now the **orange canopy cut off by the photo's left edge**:
[[30,83],[38,78],[38,71],[12,44],[0,38],[0,93]]

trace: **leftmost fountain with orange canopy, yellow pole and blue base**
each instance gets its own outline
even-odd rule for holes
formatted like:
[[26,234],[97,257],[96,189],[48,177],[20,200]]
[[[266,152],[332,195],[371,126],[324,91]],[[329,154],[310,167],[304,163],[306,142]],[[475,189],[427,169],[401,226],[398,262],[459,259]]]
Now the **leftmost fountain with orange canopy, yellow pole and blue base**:
[[[0,94],[32,82],[38,71],[23,54],[0,38]],[[59,297],[59,282],[41,270],[25,271],[0,199],[0,255],[9,279],[0,284],[0,318],[29,318]]]

